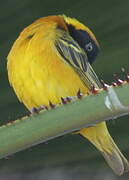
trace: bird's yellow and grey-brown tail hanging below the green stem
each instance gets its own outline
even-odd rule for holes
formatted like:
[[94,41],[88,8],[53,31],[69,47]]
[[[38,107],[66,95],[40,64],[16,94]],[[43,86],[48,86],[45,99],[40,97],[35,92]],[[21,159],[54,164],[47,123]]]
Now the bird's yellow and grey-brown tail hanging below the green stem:
[[81,129],[79,133],[95,145],[117,175],[129,171],[129,163],[111,138],[105,122]]

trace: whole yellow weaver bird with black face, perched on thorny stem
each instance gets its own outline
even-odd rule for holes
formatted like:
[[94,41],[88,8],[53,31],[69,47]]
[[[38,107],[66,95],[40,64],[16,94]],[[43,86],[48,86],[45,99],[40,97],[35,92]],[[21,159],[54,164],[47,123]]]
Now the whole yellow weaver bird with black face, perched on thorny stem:
[[[22,31],[8,55],[10,84],[29,110],[60,103],[61,97],[76,96],[79,89],[88,94],[93,86],[101,88],[90,65],[98,51],[94,34],[78,20],[65,15],[40,18]],[[116,174],[129,170],[105,122],[79,133],[95,145]]]

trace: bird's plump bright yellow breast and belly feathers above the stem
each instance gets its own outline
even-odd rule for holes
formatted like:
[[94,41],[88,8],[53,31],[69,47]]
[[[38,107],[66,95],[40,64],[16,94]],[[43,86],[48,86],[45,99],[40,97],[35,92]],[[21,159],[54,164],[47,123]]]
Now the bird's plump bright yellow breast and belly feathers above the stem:
[[24,34],[8,56],[8,73],[18,98],[27,108],[48,105],[49,101],[59,103],[61,97],[75,96],[79,89],[87,93],[72,67],[61,60],[54,46],[53,30],[47,35]]

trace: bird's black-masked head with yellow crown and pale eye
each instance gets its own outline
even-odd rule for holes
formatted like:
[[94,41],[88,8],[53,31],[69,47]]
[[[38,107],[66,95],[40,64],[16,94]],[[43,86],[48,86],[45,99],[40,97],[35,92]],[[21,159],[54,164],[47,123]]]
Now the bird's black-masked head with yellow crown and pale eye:
[[64,18],[70,35],[78,42],[80,47],[84,49],[88,56],[88,61],[92,63],[100,50],[95,35],[88,27],[78,20],[64,15],[62,17]]

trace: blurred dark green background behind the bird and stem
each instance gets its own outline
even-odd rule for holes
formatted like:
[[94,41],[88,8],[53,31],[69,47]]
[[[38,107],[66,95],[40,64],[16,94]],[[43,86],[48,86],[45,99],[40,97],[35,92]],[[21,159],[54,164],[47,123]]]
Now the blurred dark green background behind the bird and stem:
[[[21,30],[39,17],[66,14],[90,27],[101,53],[93,67],[111,83],[121,78],[121,67],[129,71],[128,0],[4,0],[0,2],[0,123],[27,113],[9,86],[6,57]],[[108,122],[112,136],[129,159],[129,118]],[[0,179],[129,179],[117,177],[98,151],[79,135],[66,135],[0,160]]]

